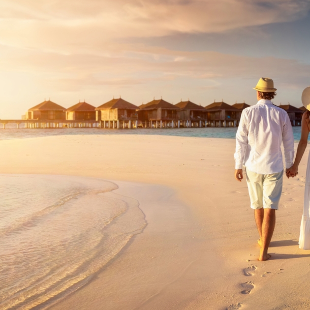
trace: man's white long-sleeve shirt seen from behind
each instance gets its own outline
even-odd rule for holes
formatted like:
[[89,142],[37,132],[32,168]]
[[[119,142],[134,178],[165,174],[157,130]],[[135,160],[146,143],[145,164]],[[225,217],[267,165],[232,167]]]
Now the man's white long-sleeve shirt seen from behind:
[[259,174],[281,172],[282,141],[286,168],[290,168],[294,159],[294,137],[287,112],[264,99],[245,108],[236,134],[236,169],[242,169],[244,164]]

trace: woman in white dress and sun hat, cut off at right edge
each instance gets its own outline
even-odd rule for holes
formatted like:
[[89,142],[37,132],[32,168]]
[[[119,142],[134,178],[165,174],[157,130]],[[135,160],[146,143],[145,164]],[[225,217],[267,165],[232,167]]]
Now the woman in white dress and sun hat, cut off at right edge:
[[[287,177],[294,177],[298,174],[298,166],[307,147],[308,135],[310,132],[310,86],[302,92],[302,104],[307,109],[302,115],[301,136],[297,148],[297,154],[293,166],[288,169]],[[306,181],[304,189],[303,214],[300,225],[299,247],[303,250],[310,250],[310,152],[308,157]]]

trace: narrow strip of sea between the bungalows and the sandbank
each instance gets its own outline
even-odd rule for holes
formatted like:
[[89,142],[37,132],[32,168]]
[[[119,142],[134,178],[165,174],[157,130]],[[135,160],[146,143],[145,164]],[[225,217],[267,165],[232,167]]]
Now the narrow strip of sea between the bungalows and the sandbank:
[[[181,137],[205,137],[235,139],[237,128],[174,128],[174,129],[99,129],[99,128],[64,128],[64,129],[0,129],[0,140],[34,138],[56,135],[164,135]],[[300,139],[301,127],[293,127],[294,139]],[[309,135],[310,136],[310,135]],[[310,139],[310,137],[309,137]]]

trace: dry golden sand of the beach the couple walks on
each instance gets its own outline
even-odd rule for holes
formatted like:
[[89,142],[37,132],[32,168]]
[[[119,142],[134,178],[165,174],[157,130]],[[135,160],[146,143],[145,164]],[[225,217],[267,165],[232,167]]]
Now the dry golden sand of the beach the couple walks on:
[[[194,238],[185,246],[191,249],[195,245],[192,252],[197,260],[187,268],[178,269],[180,277],[177,281],[167,282],[146,304],[136,304],[131,309],[202,310],[207,305],[208,309],[230,310],[238,304],[249,309],[285,309],[289,306],[296,310],[306,309],[310,290],[307,281],[310,251],[299,250],[296,242],[309,147],[300,164],[298,178],[284,179],[270,247],[272,259],[259,262],[258,233],[246,183],[240,184],[233,177],[234,146],[235,141],[231,139],[145,135],[2,140],[0,147],[4,156],[0,169],[2,173],[68,174],[118,182],[162,184],[175,191],[176,198],[190,212],[191,227],[197,232],[191,234],[189,231],[187,236]],[[170,221],[170,225],[173,223]],[[147,236],[145,231],[142,235]],[[153,240],[157,239],[151,237],[147,242]],[[158,241],[158,249],[166,249],[167,240],[158,237]],[[134,255],[139,251],[139,243],[137,237],[125,254],[128,262],[133,264],[137,259],[137,265],[141,266],[147,262],[147,253],[140,252],[139,257]],[[153,274],[170,272],[163,264],[157,267]],[[100,282],[96,285],[98,290],[102,288]],[[276,291],[274,287],[277,287]],[[244,294],[243,291],[250,292]],[[79,294],[83,292],[86,292],[84,288],[79,290]],[[97,295],[89,292],[85,296],[100,303]],[[146,295],[140,293],[140,298]],[[87,309],[81,304],[83,299],[75,297],[72,303],[78,304],[79,309]],[[131,300],[131,295],[127,298]],[[121,308],[117,306],[114,303],[107,308]]]

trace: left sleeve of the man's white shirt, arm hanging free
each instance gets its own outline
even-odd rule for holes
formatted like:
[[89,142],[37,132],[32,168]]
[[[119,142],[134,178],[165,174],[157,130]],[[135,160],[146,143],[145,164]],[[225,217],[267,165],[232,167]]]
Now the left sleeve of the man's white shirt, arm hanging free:
[[236,134],[236,152],[234,154],[235,158],[235,169],[242,169],[244,155],[246,146],[248,143],[247,135],[249,132],[247,131],[246,125],[246,116],[244,110],[242,111],[239,127]]

